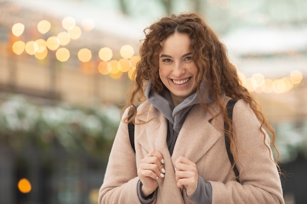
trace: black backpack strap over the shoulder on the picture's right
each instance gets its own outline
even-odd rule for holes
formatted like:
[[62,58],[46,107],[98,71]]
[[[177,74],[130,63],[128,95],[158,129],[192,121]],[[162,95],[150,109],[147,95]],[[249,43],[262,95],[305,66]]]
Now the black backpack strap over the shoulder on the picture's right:
[[[230,121],[232,122],[232,111],[233,111],[233,107],[234,107],[234,104],[236,103],[237,101],[234,100],[234,99],[230,99],[226,105],[226,108],[227,108],[227,114],[228,114],[228,117],[230,119]],[[224,128],[225,128],[225,131],[227,132],[227,130],[229,129],[229,126],[227,123],[224,122]],[[230,135],[232,136],[232,135]],[[227,136],[227,134],[225,133],[225,145],[226,145],[226,150],[227,150],[227,154],[228,154],[228,157],[229,157],[229,160],[230,160],[230,163],[231,165],[233,165],[234,163],[234,159],[233,159],[233,155],[231,154],[231,151],[230,151],[230,139],[229,137]],[[233,167],[233,171],[234,171],[234,175],[236,177],[236,180],[238,182],[240,182],[239,180],[239,171],[236,167],[236,165],[234,165]]]

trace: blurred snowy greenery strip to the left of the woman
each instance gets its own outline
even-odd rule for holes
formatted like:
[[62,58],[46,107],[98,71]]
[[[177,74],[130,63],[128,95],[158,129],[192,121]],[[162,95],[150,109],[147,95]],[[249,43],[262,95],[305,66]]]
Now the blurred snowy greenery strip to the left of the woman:
[[85,152],[107,161],[119,122],[120,109],[113,105],[51,106],[22,95],[0,94],[0,142],[16,154],[35,146],[48,156],[59,144],[68,154]]

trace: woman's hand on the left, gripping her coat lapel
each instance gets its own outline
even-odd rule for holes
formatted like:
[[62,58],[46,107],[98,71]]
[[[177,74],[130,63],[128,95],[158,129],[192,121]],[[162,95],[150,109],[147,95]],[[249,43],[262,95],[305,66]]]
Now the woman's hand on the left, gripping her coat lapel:
[[142,182],[142,195],[148,197],[158,187],[158,178],[164,178],[164,160],[161,153],[152,150],[144,159],[141,159],[137,175]]

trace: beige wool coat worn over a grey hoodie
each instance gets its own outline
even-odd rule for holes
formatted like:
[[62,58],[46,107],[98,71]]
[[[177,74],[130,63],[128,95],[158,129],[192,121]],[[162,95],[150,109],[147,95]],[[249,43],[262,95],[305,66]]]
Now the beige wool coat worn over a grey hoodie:
[[[228,97],[223,96],[226,105]],[[124,113],[124,117],[128,111]],[[193,204],[176,185],[173,163],[179,156],[195,162],[198,173],[212,186],[212,204],[283,204],[281,181],[267,146],[269,137],[259,131],[260,124],[250,107],[239,100],[233,110],[233,128],[237,136],[240,183],[230,173],[230,161],[225,147],[224,123],[217,105],[210,113],[194,105],[188,113],[170,157],[167,144],[167,120],[149,102],[138,108],[143,113],[135,126],[136,155],[131,148],[128,126],[121,123],[115,137],[105,178],[100,189],[99,204],[140,204],[137,195],[137,167],[140,159],[153,149],[165,161],[165,178],[158,179],[157,196],[153,204]],[[152,120],[151,120],[152,119]],[[270,151],[270,152],[269,152]],[[270,157],[271,155],[271,157]]]

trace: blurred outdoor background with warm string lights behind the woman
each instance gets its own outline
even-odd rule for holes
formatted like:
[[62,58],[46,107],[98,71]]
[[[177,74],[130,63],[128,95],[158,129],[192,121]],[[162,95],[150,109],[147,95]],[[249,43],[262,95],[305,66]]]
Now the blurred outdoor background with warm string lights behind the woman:
[[96,204],[143,29],[199,12],[307,203],[307,0],[0,0],[0,204]]

